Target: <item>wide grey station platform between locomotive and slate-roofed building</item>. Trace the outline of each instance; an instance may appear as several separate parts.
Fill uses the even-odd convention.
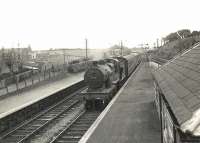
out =
[[[161,131],[149,64],[142,64],[79,143],[160,143]]]

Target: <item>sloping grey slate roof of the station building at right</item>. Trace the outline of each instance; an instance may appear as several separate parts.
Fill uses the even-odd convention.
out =
[[[200,44],[154,72],[179,124],[200,108]]]

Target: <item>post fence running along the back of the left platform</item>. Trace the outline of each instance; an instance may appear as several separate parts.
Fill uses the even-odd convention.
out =
[[[18,92],[21,89],[30,87],[44,80],[49,80],[58,75],[65,74],[68,64],[52,65],[51,68],[46,66],[42,69],[31,69],[29,71],[13,75],[9,78],[0,80],[0,96],[8,93]]]

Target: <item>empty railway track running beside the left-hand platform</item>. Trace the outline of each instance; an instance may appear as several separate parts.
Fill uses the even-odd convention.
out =
[[[67,96],[59,103],[8,132],[0,138],[0,143],[22,143],[30,140],[31,137],[39,133],[50,123],[59,120],[59,118],[63,118],[69,112],[72,112],[75,107],[80,106],[82,103],[77,99],[79,92],[76,91]]]

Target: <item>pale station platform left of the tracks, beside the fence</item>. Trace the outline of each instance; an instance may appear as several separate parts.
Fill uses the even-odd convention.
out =
[[[45,82],[39,86],[1,99],[0,119],[83,80],[83,74],[83,72],[67,73],[60,80]]]

